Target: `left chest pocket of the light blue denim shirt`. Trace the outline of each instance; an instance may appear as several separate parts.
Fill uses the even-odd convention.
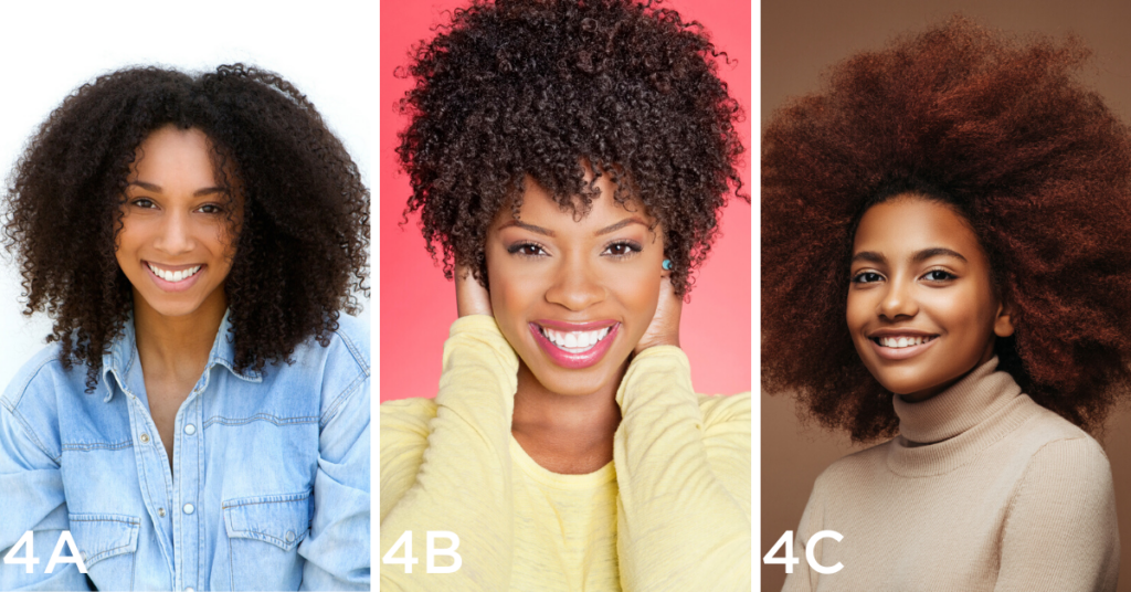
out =
[[[133,590],[140,520],[118,514],[70,514],[69,521],[90,581],[100,590]]]

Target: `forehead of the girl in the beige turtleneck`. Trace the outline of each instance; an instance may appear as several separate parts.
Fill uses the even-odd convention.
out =
[[[899,196],[864,213],[853,252],[879,251],[889,257],[946,247],[970,258],[984,258],[974,228],[953,207],[915,196]]]

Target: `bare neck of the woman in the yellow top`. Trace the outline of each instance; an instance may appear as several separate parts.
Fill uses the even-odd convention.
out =
[[[519,441],[538,440],[561,454],[586,455],[605,448],[611,452],[613,434],[621,423],[616,388],[627,369],[628,360],[618,379],[595,393],[562,395],[543,386],[519,361],[511,431]]]

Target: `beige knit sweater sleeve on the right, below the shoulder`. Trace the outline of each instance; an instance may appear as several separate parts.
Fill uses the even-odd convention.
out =
[[[996,591],[1114,592],[1115,494],[1107,457],[1095,440],[1051,441],[1033,456],[1001,547]]]

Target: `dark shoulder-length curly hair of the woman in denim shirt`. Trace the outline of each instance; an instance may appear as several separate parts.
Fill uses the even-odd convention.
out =
[[[224,283],[235,363],[290,362],[314,336],[323,346],[338,311],[366,293],[369,190],[314,106],[276,74],[243,65],[200,76],[131,68],[83,85],[40,127],[9,178],[5,246],[23,274],[25,315],[46,311],[61,359],[102,355],[132,310],[114,258],[135,153],[166,125],[210,140],[228,203],[243,222]]]

